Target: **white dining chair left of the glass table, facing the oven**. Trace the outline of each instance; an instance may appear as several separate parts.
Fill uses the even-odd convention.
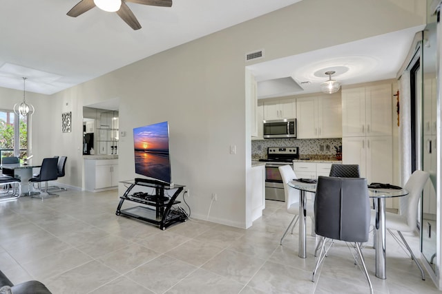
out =
[[[278,167],[278,169],[281,174],[282,184],[284,185],[284,196],[285,196],[285,205],[287,212],[294,215],[294,217],[291,219],[289,226],[287,227],[287,229],[285,229],[285,232],[282,235],[282,238],[280,240],[280,244],[282,245],[282,240],[284,240],[289,229],[291,228],[291,233],[293,233],[293,229],[296,226],[296,223],[298,222],[300,214],[299,213],[300,191],[298,189],[294,189],[289,186],[289,182],[297,178],[291,165],[282,165],[281,167]],[[309,200],[307,200],[306,215],[311,218],[311,234],[314,235],[314,209],[313,209],[313,203]]]

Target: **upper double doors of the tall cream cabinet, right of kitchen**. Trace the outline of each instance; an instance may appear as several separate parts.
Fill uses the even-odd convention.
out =
[[[392,135],[392,85],[342,90],[343,136]]]

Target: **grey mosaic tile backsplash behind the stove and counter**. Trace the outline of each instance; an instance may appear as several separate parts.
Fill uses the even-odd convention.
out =
[[[253,159],[266,158],[268,147],[299,147],[302,156],[334,156],[336,147],[342,145],[341,138],[321,139],[266,139],[251,141],[251,156]]]

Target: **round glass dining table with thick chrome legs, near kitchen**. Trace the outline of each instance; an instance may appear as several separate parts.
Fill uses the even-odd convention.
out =
[[[306,198],[305,193],[316,193],[316,182],[301,182],[291,180],[289,186],[298,189],[299,193],[299,251],[300,258],[307,258],[306,254]],[[369,198],[373,198],[376,210],[376,225],[374,227],[375,240],[375,267],[376,277],[386,279],[386,255],[385,255],[385,198],[401,197],[408,195],[406,189],[377,189],[367,188]]]

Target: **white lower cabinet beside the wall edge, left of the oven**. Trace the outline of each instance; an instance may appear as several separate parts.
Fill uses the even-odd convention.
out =
[[[265,165],[251,168],[251,221],[262,216],[265,209]]]

